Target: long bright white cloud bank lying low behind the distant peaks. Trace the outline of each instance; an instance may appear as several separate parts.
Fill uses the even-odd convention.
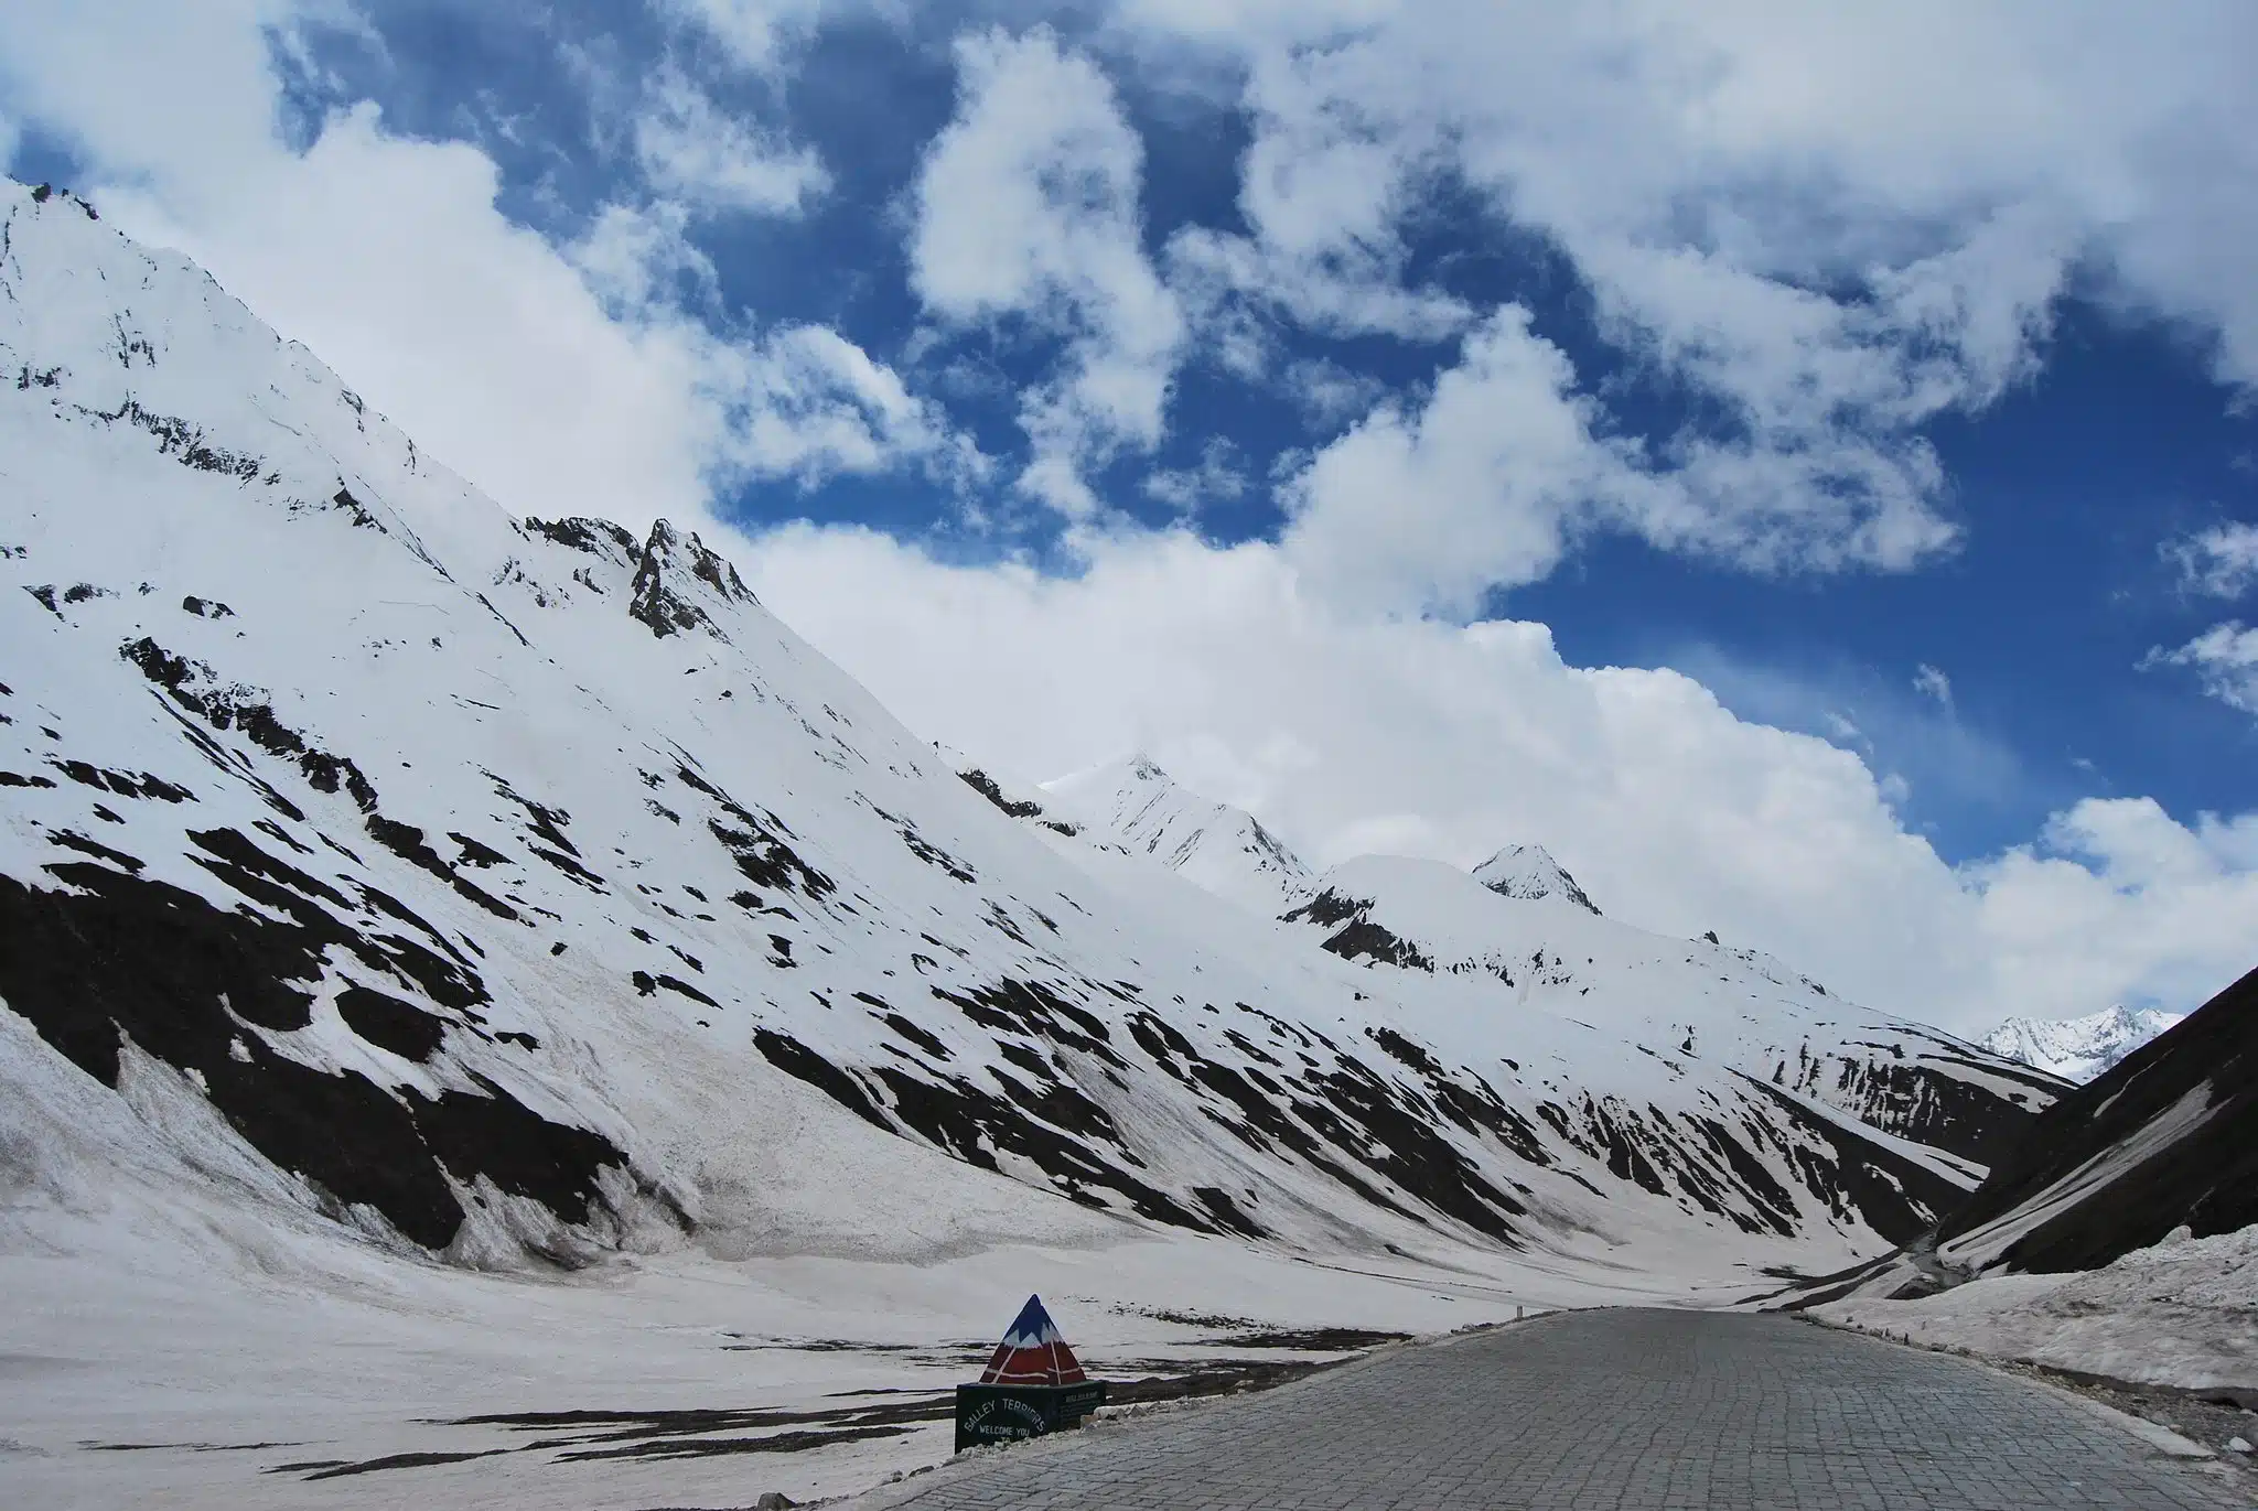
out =
[[[1542,842],[1614,917],[1951,1028],[2190,1005],[2258,951],[2258,815],[2084,802],[1955,872],[1854,752],[1673,671],[1563,664],[1544,626],[1344,614],[1269,544],[1118,535],[1061,580],[793,526],[747,576],[912,727],[1003,770],[1149,750],[1312,863]]]

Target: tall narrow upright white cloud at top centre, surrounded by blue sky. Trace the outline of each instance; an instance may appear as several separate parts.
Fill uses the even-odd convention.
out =
[[[1145,255],[1145,147],[1106,75],[1048,27],[957,41],[957,111],[917,176],[910,282],[955,325],[1025,321],[1066,343],[1021,395],[1021,486],[1088,519],[1091,465],[1165,431],[1183,312]]]

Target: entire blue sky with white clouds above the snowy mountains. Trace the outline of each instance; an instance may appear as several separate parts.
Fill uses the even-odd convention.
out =
[[[1136,741],[1319,858],[1479,858],[1486,827],[1612,811],[1596,777],[1542,786],[1599,770],[1684,833],[1526,838],[1657,924],[1757,888],[1730,917],[1782,949],[1865,917],[1858,885],[1915,885],[1876,858],[1906,838],[1971,906],[2075,861],[2127,931],[2188,865],[2240,888],[2251,14],[1761,11],[34,5],[0,34],[0,149],[102,187],[506,506],[736,529],[786,619],[1036,777]],[[115,36],[140,41],[104,72]],[[1118,626],[1176,632],[1249,571],[1285,608],[1242,583],[1213,632],[1285,637],[1249,650],[1264,696],[1188,702],[1224,675],[1192,639],[1113,660]],[[1325,628],[1287,646],[1303,612]],[[1484,621],[1551,646],[1495,673],[1488,723],[1434,671],[1499,655]],[[926,639],[1018,682],[951,680],[903,648]],[[1447,646],[1432,725],[1389,745],[1377,714],[1310,711],[1384,707],[1418,644]],[[1328,682],[1344,655],[1377,680]],[[1075,716],[1079,680],[1120,691]],[[1307,702],[1235,725],[1269,684]],[[1484,743],[1569,687],[1601,689],[1594,727],[1694,687],[1718,739],[1775,754],[1680,791],[1624,752]],[[1820,768],[1843,813],[1784,797]],[[1838,820],[1872,849],[1811,838]],[[1725,833],[1777,845],[1721,861]],[[1836,924],[1779,922],[1797,867],[1867,881]],[[2159,949],[2258,953],[2242,897]],[[2186,994],[2145,960],[2113,992]]]

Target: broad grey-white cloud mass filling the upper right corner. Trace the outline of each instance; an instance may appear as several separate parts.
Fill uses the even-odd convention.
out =
[[[1603,515],[1666,549],[1766,571],[1951,549],[1922,431],[2032,373],[2073,269],[2197,327],[2220,379],[2258,382],[2258,282],[2233,269],[2258,235],[2258,11],[2238,0],[2165,18],[1120,0],[1115,29],[1156,70],[1185,50],[1237,65],[1249,233],[1179,237],[1210,285],[1319,327],[1348,291],[1409,309],[1425,294],[1402,287],[1400,244],[1436,181],[1556,248],[1601,334],[1705,416],[1653,436],[1662,486]],[[1542,542],[1542,513],[1499,531],[1499,580],[1542,560],[1524,540]],[[1423,551],[1456,596],[1456,542]]]

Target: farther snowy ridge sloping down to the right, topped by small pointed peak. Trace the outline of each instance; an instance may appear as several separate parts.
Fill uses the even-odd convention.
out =
[[[1287,915],[1371,967],[1488,982],[1497,1010],[1590,1023],[1664,1064],[1723,1064],[1969,1161],[1980,1172],[2062,1082],[1933,1028],[1854,1007],[1757,951],[1502,894],[1432,861],[1366,856]]]

